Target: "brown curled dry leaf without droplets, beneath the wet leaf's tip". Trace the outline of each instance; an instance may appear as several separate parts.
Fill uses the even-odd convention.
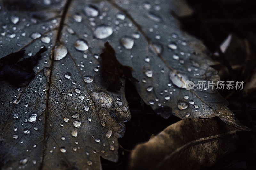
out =
[[[131,153],[130,169],[202,169],[234,152],[240,130],[218,118],[184,119]],[[182,135],[181,135],[182,134]]]

